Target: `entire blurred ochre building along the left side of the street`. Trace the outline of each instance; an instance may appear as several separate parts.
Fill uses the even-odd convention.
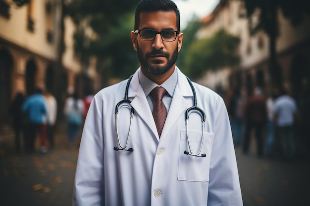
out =
[[[64,2],[17,5],[0,0],[0,127],[10,124],[9,108],[17,92],[29,96],[37,87],[50,91],[62,118],[68,93],[78,92],[82,98],[101,86],[96,58],[83,65],[74,54],[76,28],[63,15]]]

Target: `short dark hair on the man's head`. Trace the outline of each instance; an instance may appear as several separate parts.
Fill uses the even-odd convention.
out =
[[[147,11],[174,11],[176,14],[176,26],[178,32],[180,29],[180,11],[176,4],[172,0],[140,0],[137,4],[136,14],[135,14],[135,30],[139,29],[140,25],[140,13]]]

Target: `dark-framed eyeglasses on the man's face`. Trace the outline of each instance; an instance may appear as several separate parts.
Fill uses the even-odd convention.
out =
[[[157,32],[152,29],[140,29],[135,31],[136,34],[140,34],[140,38],[144,41],[153,41],[157,34],[160,34],[162,41],[175,41],[176,36],[180,33],[174,30],[164,30]]]

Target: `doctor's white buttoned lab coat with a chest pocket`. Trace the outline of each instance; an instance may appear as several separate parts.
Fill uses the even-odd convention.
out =
[[[135,109],[128,148],[119,147],[115,131],[115,105],[124,98],[127,81],[98,92],[83,129],[76,168],[75,206],[242,206],[238,169],[227,111],[222,98],[194,83],[198,107],[206,113],[202,153],[189,150],[185,110],[193,105],[186,77],[176,67],[178,82],[159,139],[152,111],[139,83],[138,72],[128,97]],[[118,117],[122,146],[125,145],[130,111],[124,106]],[[193,112],[189,122],[192,152],[198,150],[202,127]]]

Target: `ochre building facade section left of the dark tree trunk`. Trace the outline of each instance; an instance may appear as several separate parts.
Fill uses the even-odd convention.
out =
[[[30,0],[17,6],[0,0],[0,122],[8,124],[17,92],[36,87],[56,92],[61,7],[54,0]]]

